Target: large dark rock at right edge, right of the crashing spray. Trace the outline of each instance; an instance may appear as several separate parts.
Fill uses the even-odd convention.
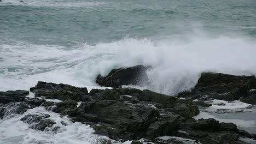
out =
[[[245,97],[254,87],[256,87],[255,76],[202,73],[191,92],[179,93],[178,97],[203,98],[200,101],[210,98],[232,101]]]

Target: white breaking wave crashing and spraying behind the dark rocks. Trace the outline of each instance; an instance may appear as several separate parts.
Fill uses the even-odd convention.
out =
[[[98,74],[113,68],[151,65],[153,91],[176,94],[193,87],[202,71],[256,74],[256,43],[245,38],[125,38],[112,43],[77,45],[0,45],[0,89],[27,89],[37,81],[96,87]],[[15,83],[15,85],[14,85]]]

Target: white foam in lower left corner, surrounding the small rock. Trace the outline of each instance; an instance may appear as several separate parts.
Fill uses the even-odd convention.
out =
[[[20,121],[22,117],[27,114],[46,113],[50,115],[56,124],[53,127],[60,127],[59,133],[53,131],[39,131],[28,128],[28,124]],[[67,126],[61,124],[65,122]],[[109,140],[106,136],[99,136],[94,134],[94,129],[89,125],[79,122],[72,123],[67,116],[60,117],[59,113],[46,111],[44,107],[36,107],[26,111],[23,115],[15,115],[9,119],[0,120],[0,143],[44,143],[53,144],[82,144],[82,143],[100,143],[102,139]],[[121,143],[113,141],[113,143]],[[129,143],[129,142],[126,142]]]

